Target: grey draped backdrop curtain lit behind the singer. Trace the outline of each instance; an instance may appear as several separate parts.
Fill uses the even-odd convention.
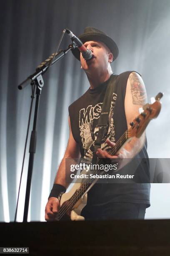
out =
[[[31,100],[30,86],[19,91],[17,85],[55,51],[65,27],[76,35],[86,26],[105,31],[120,51],[112,64],[113,72],[136,70],[142,74],[148,99],[159,91],[165,92],[162,113],[147,130],[148,153],[150,157],[170,157],[169,0],[1,0],[0,4],[0,221],[14,220]],[[70,38],[65,35],[60,48],[68,44]],[[29,220],[44,220],[47,197],[67,145],[67,108],[89,87],[71,52],[50,68],[44,82]],[[27,169],[28,148],[18,221],[23,218]],[[163,186],[159,189],[169,189],[169,184]],[[155,198],[152,194],[153,202]],[[160,207],[158,202],[155,207]],[[155,208],[150,209],[148,218],[154,218]]]

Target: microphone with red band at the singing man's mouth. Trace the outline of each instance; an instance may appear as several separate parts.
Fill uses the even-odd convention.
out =
[[[69,29],[65,28],[67,34],[70,36],[71,40],[75,42],[75,44],[77,44],[77,48],[79,49],[79,51],[82,53],[82,57],[85,60],[91,59],[92,58],[92,51],[87,49],[82,41],[75,36]]]

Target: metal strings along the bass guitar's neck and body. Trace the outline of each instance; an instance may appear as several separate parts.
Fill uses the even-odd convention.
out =
[[[110,149],[110,151],[108,151],[108,153],[109,154],[115,154],[116,153],[116,151],[118,151],[118,149],[122,146],[122,143],[124,143],[126,140],[127,140],[127,136],[128,135],[128,130],[127,131],[125,131],[125,133],[123,133],[123,135],[119,138],[119,140],[117,141],[117,143],[115,144],[115,146],[112,148],[112,149]],[[120,146],[120,147],[119,147]],[[78,189],[78,191],[80,191],[81,192],[81,189],[82,189],[82,186],[84,186],[84,184],[85,183],[82,183],[82,185],[80,186],[80,188]],[[87,185],[88,184],[90,184],[90,182],[88,182],[87,183]],[[76,193],[76,197],[74,198],[74,195],[75,195],[75,193]],[[59,212],[58,212],[58,214],[57,214],[57,216],[58,215],[60,215],[60,217],[59,218],[62,218],[62,216],[63,215],[65,215],[65,213],[67,212],[67,210],[69,210],[69,208],[70,208],[70,205],[71,204],[73,204],[73,206],[75,205],[75,202],[74,202],[74,200],[77,200],[78,199],[78,197],[80,196],[80,194],[78,194],[77,192],[75,192],[73,195],[72,195],[72,197],[68,200],[69,202],[72,200],[73,202],[70,202],[70,204],[69,205],[64,205],[63,207],[61,206],[61,209],[59,210]],[[82,195],[81,195],[82,196]],[[81,197],[80,196],[80,197]],[[80,198],[79,198],[80,199]],[[72,206],[72,207],[73,207]],[[70,209],[71,210],[71,209]],[[62,215],[62,216],[61,216]]]

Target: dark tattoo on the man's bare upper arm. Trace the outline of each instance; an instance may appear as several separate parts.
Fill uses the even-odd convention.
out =
[[[147,102],[147,95],[144,84],[141,84],[138,75],[132,72],[129,76],[133,104],[145,105]]]

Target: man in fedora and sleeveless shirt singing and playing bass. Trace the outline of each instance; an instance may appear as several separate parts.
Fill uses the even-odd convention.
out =
[[[55,220],[59,209],[58,195],[65,192],[68,183],[65,179],[65,159],[92,158],[97,136],[97,121],[110,77],[114,76],[110,64],[118,56],[115,41],[102,31],[87,27],[79,36],[92,58],[85,60],[78,49],[72,51],[81,62],[81,69],[87,75],[90,88],[69,106],[68,123],[70,136],[65,155],[59,166],[54,186],[45,208],[45,220]],[[145,105],[147,95],[145,85],[137,72],[124,72],[116,76],[115,91],[110,104],[108,129],[102,137],[98,158],[148,158],[145,133],[140,138],[133,137],[119,154],[112,156],[112,148],[122,134],[130,128],[130,122],[139,115],[138,109]],[[80,85],[81,86],[81,85]],[[96,183],[87,193],[87,205],[81,215],[85,220],[144,219],[145,209],[150,206],[150,184],[143,177],[148,170],[143,164],[138,167],[138,183]]]

